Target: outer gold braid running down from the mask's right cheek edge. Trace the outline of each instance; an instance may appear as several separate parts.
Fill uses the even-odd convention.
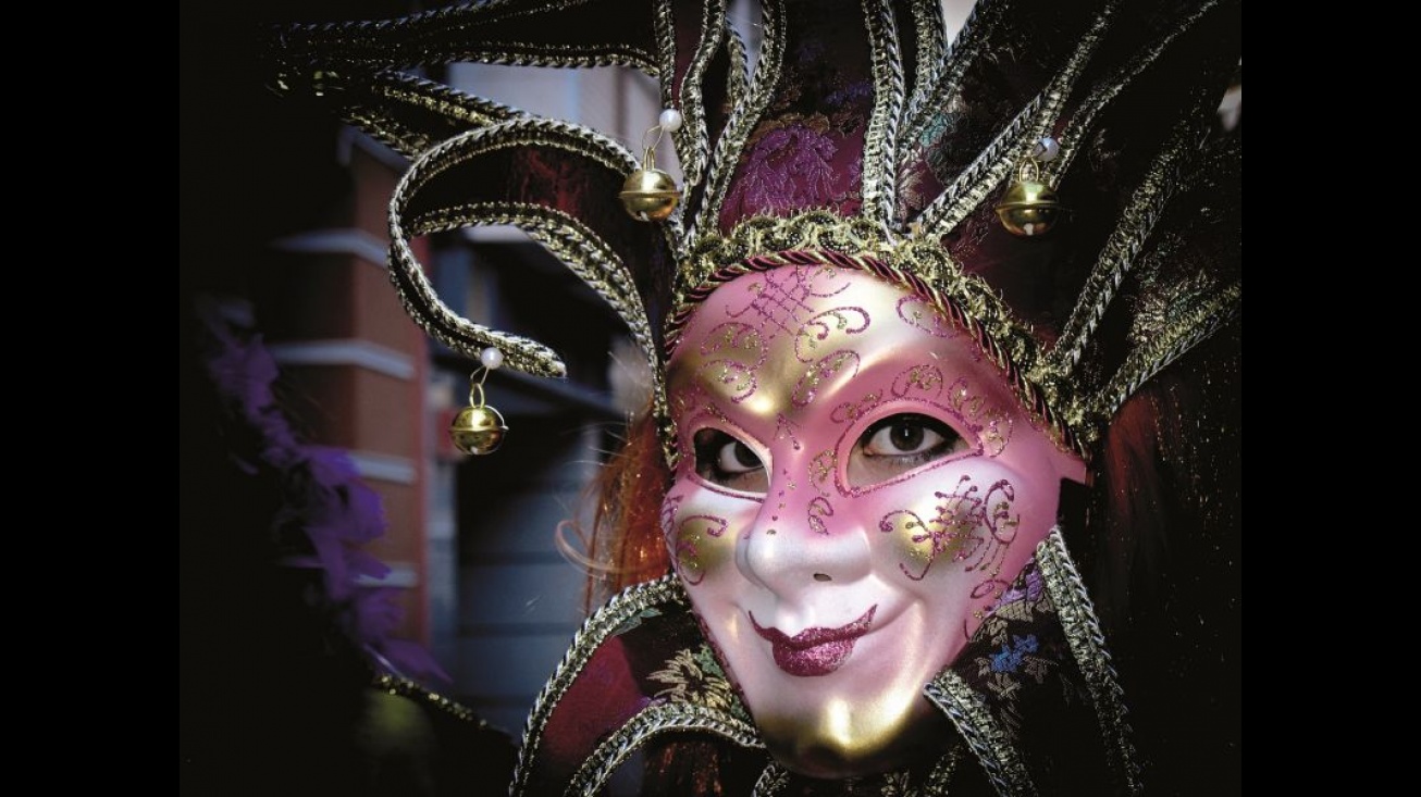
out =
[[[1066,631],[1071,656],[1086,676],[1086,688],[1096,706],[1096,719],[1100,722],[1110,769],[1127,794],[1138,794],[1140,764],[1135,761],[1135,746],[1130,740],[1133,732],[1125,720],[1124,689],[1115,678],[1115,668],[1110,663],[1096,609],[1091,607],[1090,595],[1086,594],[1086,585],[1081,584],[1080,573],[1066,551],[1066,541],[1059,527],[1052,528],[1052,533],[1036,546],[1036,561],[1042,568],[1052,604],[1056,605],[1061,628]]]

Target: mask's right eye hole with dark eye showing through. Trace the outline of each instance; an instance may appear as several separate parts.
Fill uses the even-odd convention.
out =
[[[854,443],[848,455],[848,483],[867,487],[887,482],[971,448],[956,429],[936,418],[914,412],[890,415]]]

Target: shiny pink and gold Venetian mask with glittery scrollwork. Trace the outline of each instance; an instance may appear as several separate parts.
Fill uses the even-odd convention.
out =
[[[814,777],[941,740],[922,688],[1084,465],[917,294],[780,267],[719,287],[669,369],[676,573],[772,754]]]

